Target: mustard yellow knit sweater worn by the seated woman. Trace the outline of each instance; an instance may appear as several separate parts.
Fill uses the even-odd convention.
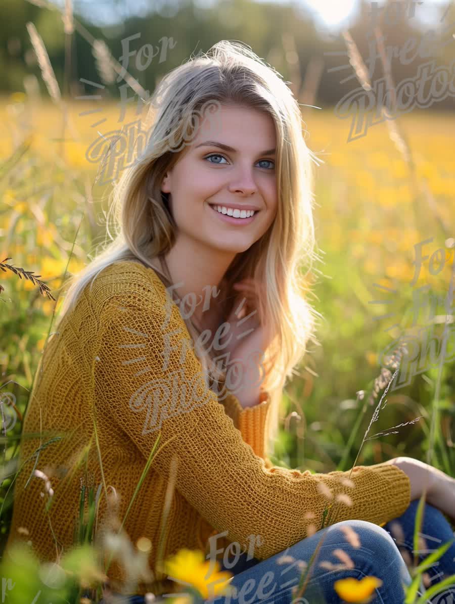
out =
[[[105,484],[113,493],[114,487],[123,521],[158,434],[123,526],[134,546],[140,537],[152,544],[154,580],[141,580],[135,593],[173,591],[175,582],[158,563],[183,547],[208,555],[210,536],[217,536],[215,549],[237,542],[242,551],[254,536],[253,555],[262,560],[305,538],[309,525],[319,530],[330,504],[329,524],[363,519],[384,525],[405,511],[410,482],[396,466],[356,466],[350,480],[349,471],[273,466],[264,455],[269,394],[262,390],[257,405],[247,408],[233,393],[224,396],[225,389],[217,396],[190,342],[179,307],[152,268],[115,262],[83,289],[40,360],[24,418],[7,548],[16,539],[31,541],[40,559],[53,561],[57,551],[68,550],[87,476],[95,490]],[[36,463],[34,451],[56,434],[63,437],[42,448]],[[53,495],[36,476],[24,489],[34,467],[49,477]],[[105,527],[120,527],[108,524],[106,502],[115,498],[103,493],[104,486],[97,538]],[[338,500],[341,493],[352,505]],[[116,559],[107,574],[120,589],[126,575]]]

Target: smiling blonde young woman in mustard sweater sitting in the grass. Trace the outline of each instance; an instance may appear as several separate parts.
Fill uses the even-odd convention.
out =
[[[73,544],[81,481],[91,481],[97,539],[115,503],[153,571],[131,602],[172,591],[171,554],[201,548],[213,559],[213,545],[220,562],[230,545],[245,552],[236,568],[223,562],[239,599],[253,579],[251,604],[291,602],[302,568],[279,580],[280,559],[308,563],[322,536],[318,563],[340,564],[334,550],[352,562],[314,565],[307,593],[340,602],[335,580],[373,575],[373,602],[402,602],[411,577],[387,529],[396,521],[411,550],[427,489],[422,533],[453,538],[443,515],[455,516],[453,478],[406,457],[328,474],[268,458],[316,314],[302,274],[314,254],[314,156],[297,101],[249,47],[222,41],[171,71],[150,102],[147,145],[114,188],[117,236],[75,278],[40,364],[24,434],[42,435],[21,443],[8,545],[25,539],[58,560]],[[63,437],[33,457],[56,431]],[[40,495],[34,468],[53,493]],[[435,582],[455,572],[454,550],[428,570]],[[268,571],[279,583],[265,589]],[[117,559],[108,576],[120,591]]]

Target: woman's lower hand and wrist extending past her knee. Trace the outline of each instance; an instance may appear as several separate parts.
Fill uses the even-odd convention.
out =
[[[455,521],[454,478],[413,457],[396,457],[386,463],[399,467],[408,476],[411,501],[419,499],[426,487],[425,500]]]

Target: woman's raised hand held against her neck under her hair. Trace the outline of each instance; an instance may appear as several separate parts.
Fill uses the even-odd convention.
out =
[[[230,353],[227,370],[234,362],[242,367],[242,376],[233,393],[239,393],[237,398],[242,406],[253,406],[259,399],[264,377],[263,355],[271,341],[259,315],[258,301],[263,290],[252,278],[236,283],[234,288],[239,295],[227,318],[231,336],[229,344],[224,347],[224,351]]]

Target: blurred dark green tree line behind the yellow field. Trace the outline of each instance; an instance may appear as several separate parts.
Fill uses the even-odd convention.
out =
[[[112,7],[115,3],[116,0],[112,0]],[[129,74],[151,94],[166,72],[190,56],[207,51],[222,39],[241,40],[250,45],[256,54],[283,75],[302,103],[318,106],[336,104],[360,86],[357,77],[349,78],[353,67],[341,33],[324,33],[311,12],[297,2],[259,4],[252,0],[217,0],[206,8],[199,7],[193,0],[180,0],[172,7],[153,4],[155,6],[148,14],[131,17],[109,27],[97,27],[81,14],[74,13],[74,33],[65,34],[62,11],[50,1],[1,0],[4,21],[0,22],[0,90],[4,93],[24,91],[24,78],[27,82],[27,77],[33,74],[42,94],[48,94],[31,45],[27,22],[32,22],[42,37],[65,97],[80,94],[119,97],[119,87],[125,82],[108,68],[106,60],[103,61],[107,52],[126,65]],[[450,2],[434,5],[440,18],[436,25],[427,27],[413,16],[413,11],[420,14],[419,11],[423,10],[420,4],[389,1],[386,8],[378,13],[377,20],[384,36],[386,54],[390,53],[395,85],[404,79],[415,78],[418,66],[428,60],[434,59],[436,67],[445,65],[447,69],[453,61],[455,39],[449,24],[453,21],[455,8]],[[369,59],[374,63],[370,74],[373,81],[384,75],[379,57],[373,60],[372,8],[375,6],[378,7],[377,2],[361,0],[358,16],[349,26],[349,33],[367,68]],[[126,40],[129,37],[131,39]],[[128,49],[136,54],[122,61],[120,57],[126,43]],[[373,45],[377,54],[377,44]],[[390,47],[389,51],[387,47]],[[428,52],[430,56],[425,56]],[[81,79],[102,84],[105,88],[97,89],[81,82]],[[439,90],[441,85],[438,83],[436,89]],[[428,83],[427,90],[429,86]],[[131,91],[129,96],[133,96]],[[454,107],[454,98],[450,94],[433,102],[437,109]]]

